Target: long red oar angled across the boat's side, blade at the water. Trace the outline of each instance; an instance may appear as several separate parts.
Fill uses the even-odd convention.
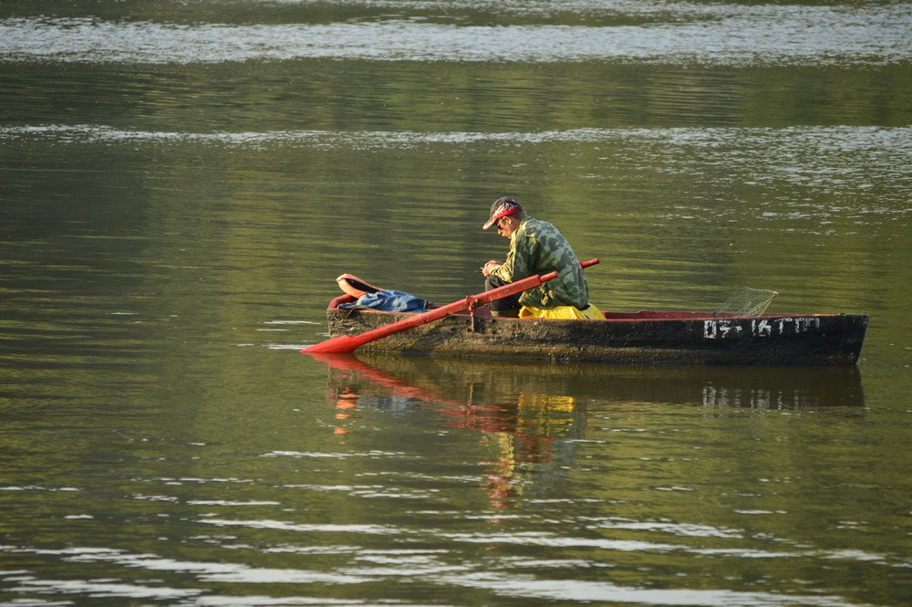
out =
[[[589,261],[584,261],[581,263],[580,266],[595,266],[597,263],[598,259],[590,259]],[[451,304],[447,304],[446,306],[430,309],[427,312],[421,312],[420,314],[416,314],[415,316],[409,317],[408,319],[401,319],[385,327],[378,327],[377,329],[365,331],[360,335],[339,335],[326,341],[321,341],[320,343],[305,348],[302,350],[302,352],[305,354],[317,354],[321,352],[339,354],[343,352],[353,352],[359,346],[363,346],[364,344],[370,343],[371,341],[382,340],[385,337],[395,335],[396,333],[400,333],[404,330],[420,327],[421,325],[426,325],[429,322],[433,322],[434,320],[452,316],[453,314],[458,314],[462,311],[472,309],[476,306],[483,306],[484,304],[491,303],[497,299],[509,297],[515,293],[522,293],[525,290],[538,287],[543,282],[553,280],[556,277],[557,272],[551,272],[542,276],[535,275],[523,278],[522,280],[517,280],[516,282],[512,282],[508,285],[503,285],[503,287],[494,288],[490,291],[479,293],[478,295],[470,295],[465,299],[454,301]]]

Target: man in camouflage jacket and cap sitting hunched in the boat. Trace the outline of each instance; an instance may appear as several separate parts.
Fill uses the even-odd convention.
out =
[[[489,304],[493,316],[512,318],[601,319],[589,303],[589,287],[583,268],[564,235],[546,221],[523,211],[513,198],[504,196],[491,205],[491,215],[482,226],[497,226],[497,234],[510,239],[503,263],[492,259],[482,267],[484,288],[503,287],[534,274],[557,271],[557,277],[539,287]]]

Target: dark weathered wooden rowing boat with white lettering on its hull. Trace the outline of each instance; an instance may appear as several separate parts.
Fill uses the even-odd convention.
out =
[[[413,316],[344,309],[350,295],[326,310],[329,334],[355,336]],[[605,312],[605,319],[493,318],[487,309],[461,312],[362,345],[359,351],[553,361],[673,364],[854,365],[865,314]]]

